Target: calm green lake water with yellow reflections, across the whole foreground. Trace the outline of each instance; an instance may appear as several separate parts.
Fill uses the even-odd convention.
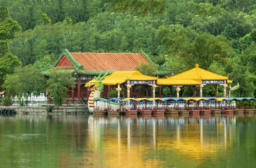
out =
[[[255,167],[256,116],[0,116],[0,167]]]

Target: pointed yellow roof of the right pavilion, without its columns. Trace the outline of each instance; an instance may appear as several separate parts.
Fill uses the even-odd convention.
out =
[[[181,74],[177,74],[173,77],[167,77],[167,79],[159,79],[157,84],[159,85],[199,85],[201,80],[227,80],[228,83],[232,83],[228,80],[228,77],[221,76],[209,72],[205,69],[201,69],[199,65],[196,65],[193,69],[190,69]]]

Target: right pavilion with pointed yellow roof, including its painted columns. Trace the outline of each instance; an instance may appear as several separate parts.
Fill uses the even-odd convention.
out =
[[[157,85],[168,85],[176,86],[176,94],[179,97],[180,86],[192,85],[193,86],[193,96],[196,96],[196,86],[200,86],[200,97],[203,97],[203,86],[206,84],[216,85],[216,97],[218,97],[218,84],[222,85],[224,88],[224,97],[226,97],[226,88],[229,84],[228,96],[230,97],[230,84],[233,80],[229,80],[228,77],[209,72],[205,69],[201,69],[199,65],[195,68],[190,69],[181,74],[177,74],[173,77],[167,77],[167,79],[157,79]]]

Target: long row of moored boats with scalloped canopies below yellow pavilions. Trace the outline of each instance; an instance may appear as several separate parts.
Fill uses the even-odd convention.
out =
[[[242,115],[256,113],[255,98],[139,98],[139,99],[95,99],[93,116],[210,116]],[[99,103],[101,103],[99,105]],[[104,104],[104,106],[102,106]]]

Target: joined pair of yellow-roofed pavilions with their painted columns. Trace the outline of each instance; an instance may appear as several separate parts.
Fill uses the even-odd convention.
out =
[[[149,77],[141,74],[138,71],[127,71],[127,72],[113,72],[112,74],[105,77],[102,83],[107,86],[105,93],[110,91],[110,86],[117,87],[118,99],[120,96],[120,91],[122,90],[120,84],[125,86],[127,89],[127,98],[132,97],[132,86],[134,85],[148,85],[151,86],[152,97],[155,97],[156,84],[159,86],[159,94],[161,95],[161,85],[165,86],[176,86],[176,95],[179,97],[180,87],[184,85],[193,86],[193,96],[196,96],[196,86],[200,87],[200,97],[203,97],[203,86],[206,84],[216,85],[216,97],[218,97],[218,84],[222,85],[224,88],[224,97],[226,97],[226,88],[229,84],[228,96],[230,97],[230,89],[232,80],[228,77],[209,72],[205,69],[201,69],[199,65],[195,68],[190,69],[181,74],[177,74],[173,77],[167,77],[167,79],[158,79],[157,77]]]

